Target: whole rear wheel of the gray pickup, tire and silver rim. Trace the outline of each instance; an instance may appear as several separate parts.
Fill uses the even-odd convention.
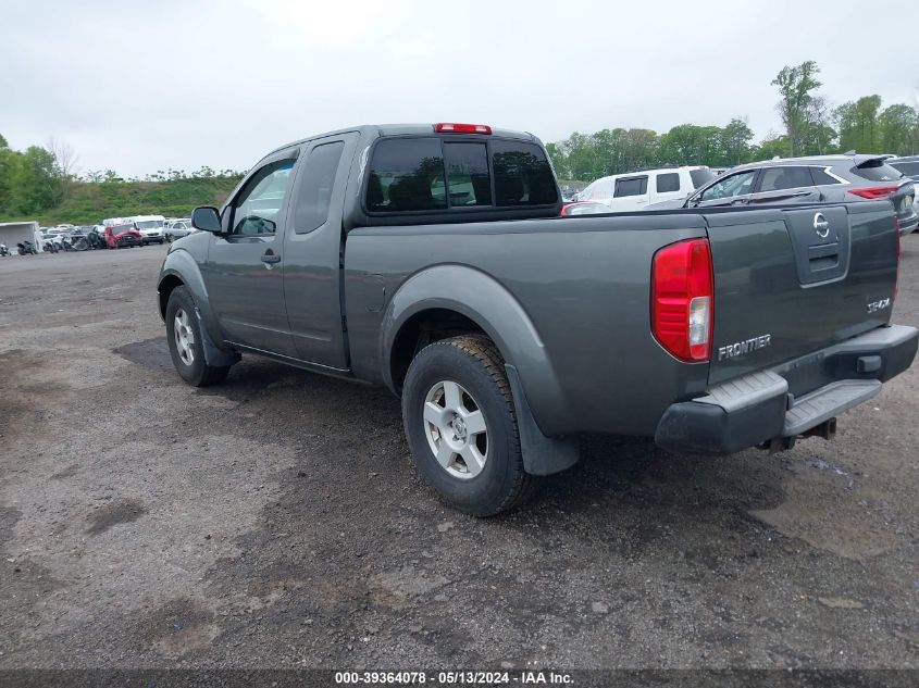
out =
[[[425,347],[406,376],[402,421],[419,471],[451,506],[492,516],[535,490],[504,361],[487,338],[463,335]]]

